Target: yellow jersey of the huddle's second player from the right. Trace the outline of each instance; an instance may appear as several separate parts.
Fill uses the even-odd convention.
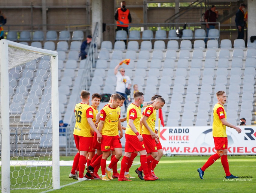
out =
[[[133,130],[129,126],[129,119],[133,120],[134,126],[138,132],[140,132],[140,119],[141,119],[141,108],[136,106],[135,104],[130,104],[127,108],[127,126],[125,129],[125,133],[128,135],[136,135]]]

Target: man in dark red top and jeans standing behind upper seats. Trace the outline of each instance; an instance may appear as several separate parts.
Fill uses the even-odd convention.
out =
[[[210,29],[215,28],[215,23],[208,23],[208,22],[216,22],[218,18],[218,11],[216,10],[216,6],[212,5],[210,9],[206,10],[204,14],[204,20],[206,22],[206,37],[208,37],[208,33]],[[204,41],[207,43],[208,38],[205,38]]]

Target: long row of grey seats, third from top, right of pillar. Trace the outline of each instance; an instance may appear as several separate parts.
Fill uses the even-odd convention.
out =
[[[123,53],[121,50],[114,50],[111,53],[111,59],[118,59],[122,60],[123,58],[130,58],[133,60],[136,59],[160,59],[163,60],[165,59],[177,59],[177,52],[175,50],[167,50],[165,53],[162,50],[153,50],[152,56],[151,52],[149,50],[140,50],[138,55],[137,52],[134,50],[128,50],[127,52]],[[228,49],[220,49],[217,57],[217,52],[215,49],[207,49],[204,55],[203,50],[200,49],[195,49],[192,52],[192,55],[190,55],[189,50],[180,50],[178,52],[178,58],[179,59],[190,59],[190,58],[256,58],[256,49],[251,48],[247,49],[246,53],[244,55],[244,50],[243,49],[234,49],[232,52],[232,57],[230,57],[230,50]],[[110,52],[108,50],[101,50],[98,55],[99,59],[104,59],[104,60],[109,60],[110,59]]]

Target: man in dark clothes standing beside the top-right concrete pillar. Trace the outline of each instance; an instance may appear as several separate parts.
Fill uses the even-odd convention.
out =
[[[237,31],[238,31],[237,39],[244,39],[244,36],[245,36],[245,34],[244,34],[245,7],[246,7],[246,5],[244,3],[241,3],[239,9],[236,11],[235,22],[236,22],[236,28],[237,28]]]

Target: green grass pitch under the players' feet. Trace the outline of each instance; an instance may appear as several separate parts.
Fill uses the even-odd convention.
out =
[[[139,156],[133,162],[129,174],[136,177],[132,182],[91,180],[78,182],[69,178],[71,167],[60,167],[60,190],[52,192],[254,192],[256,189],[256,156],[228,156],[230,172],[233,175],[252,176],[252,181],[224,181],[224,169],[218,159],[199,178],[197,168],[203,166],[209,156],[174,156],[160,160],[155,174],[156,181],[140,180],[135,174],[139,167]],[[72,160],[73,157],[60,157]],[[120,169],[120,162],[117,165]],[[99,170],[99,174],[100,174]],[[11,192],[44,192],[47,190],[11,190]]]

